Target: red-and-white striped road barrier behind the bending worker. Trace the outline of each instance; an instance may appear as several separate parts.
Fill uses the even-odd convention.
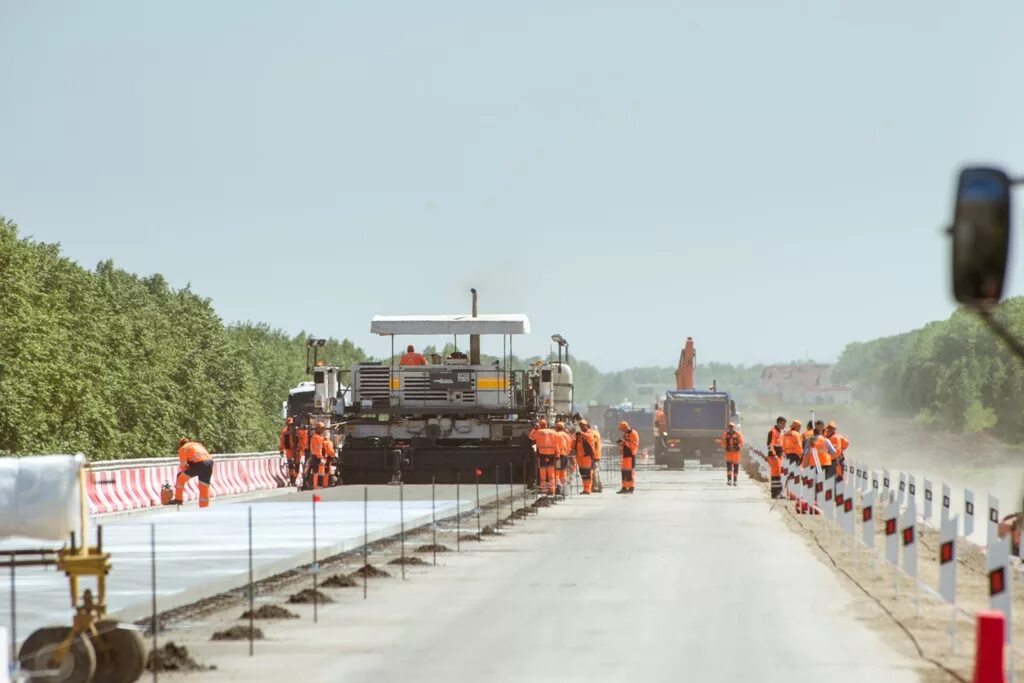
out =
[[[213,496],[236,496],[288,485],[276,453],[215,455]],[[128,512],[159,506],[160,489],[174,485],[177,458],[141,458],[90,463],[86,470],[89,513],[93,515]],[[198,481],[185,486],[184,501],[199,498]]]

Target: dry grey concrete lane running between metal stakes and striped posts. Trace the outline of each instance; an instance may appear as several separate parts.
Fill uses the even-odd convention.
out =
[[[318,625],[261,624],[255,657],[197,634],[189,648],[219,670],[196,678],[919,680],[745,477],[638,479],[632,496],[577,498],[443,567],[376,582],[368,601],[345,594]]]

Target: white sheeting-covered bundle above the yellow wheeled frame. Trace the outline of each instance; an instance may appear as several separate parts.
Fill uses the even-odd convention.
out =
[[[0,458],[0,540],[65,541],[78,530],[85,457]]]

